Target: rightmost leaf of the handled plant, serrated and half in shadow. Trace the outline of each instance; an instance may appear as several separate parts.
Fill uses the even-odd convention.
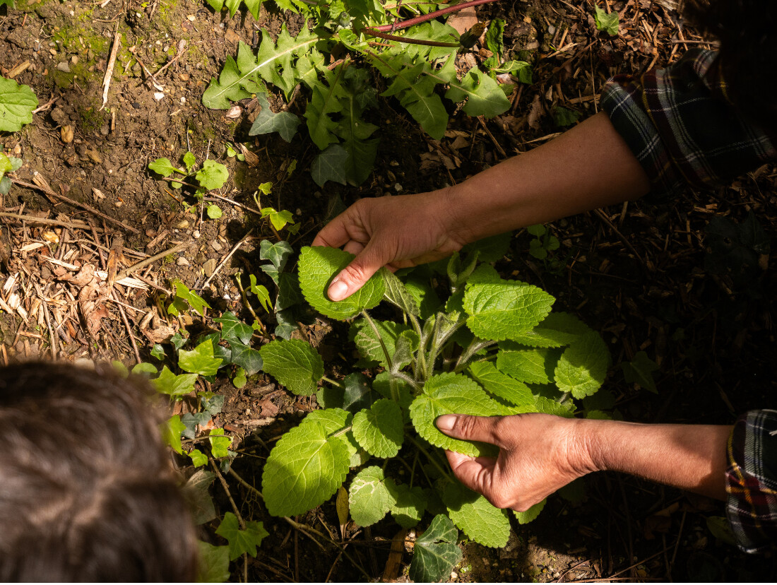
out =
[[[598,333],[590,331],[580,336],[564,350],[556,365],[556,385],[561,392],[575,398],[594,394],[607,377],[610,352]]]

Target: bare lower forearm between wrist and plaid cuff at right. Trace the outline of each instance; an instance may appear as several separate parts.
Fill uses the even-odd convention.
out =
[[[726,443],[731,428],[580,420],[591,468],[726,498]]]

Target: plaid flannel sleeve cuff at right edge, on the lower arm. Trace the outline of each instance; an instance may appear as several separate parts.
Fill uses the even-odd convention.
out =
[[[777,410],[751,410],[734,424],[728,444],[728,516],[744,552],[777,543]]]

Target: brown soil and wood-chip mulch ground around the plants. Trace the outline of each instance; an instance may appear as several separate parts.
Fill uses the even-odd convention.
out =
[[[87,221],[93,228],[65,227],[54,232],[58,243],[52,244],[47,239],[51,225],[2,218],[3,243],[12,259],[0,278],[17,275],[23,313],[29,315],[0,315],[5,359],[54,353],[46,333],[46,319],[54,319],[58,357],[134,364],[120,305],[111,304],[94,317],[99,317],[97,333],[90,333],[85,315],[75,308],[76,285],[59,280],[67,270],[52,265],[51,258],[102,269],[106,263],[110,266],[111,250],[123,254],[128,266],[179,242],[193,242],[186,252],[160,259],[141,276],[163,288],[179,278],[199,290],[253,228],[253,237],[202,291],[213,307],[211,316],[231,310],[247,317],[233,275],[261,274],[255,249],[261,239],[275,239],[267,222],[246,210],[256,207],[252,194],[260,183],[274,183],[270,201],[263,204],[292,211],[301,223],[291,240],[296,249],[309,244],[328,218],[361,197],[420,193],[458,183],[506,156],[542,144],[563,131],[554,123],[557,107],[587,117],[598,110],[596,96],[611,75],[664,66],[687,47],[698,46],[699,40],[688,29],[685,37],[678,37],[677,14],[665,8],[674,2],[608,2],[622,12],[622,34],[615,38],[595,29],[589,16],[592,2],[516,0],[479,7],[481,22],[507,21],[505,40],[511,55],[534,62],[535,83],[517,88],[511,110],[493,120],[451,111],[442,141],[423,134],[399,103],[381,99],[380,113],[371,120],[380,126],[381,138],[375,172],[361,187],[327,183],[322,189],[308,172],[317,149],[303,138],[304,132],[290,144],[277,135],[249,138],[255,100],[239,103],[237,117],[207,110],[200,102],[226,57],[236,54],[239,40],[256,47],[260,28],[276,35],[287,23],[290,30],[299,30],[300,17],[263,7],[257,23],[241,12],[234,18],[214,14],[198,0],[113,0],[104,7],[93,2],[17,3],[21,10],[0,8],[0,71],[7,75],[29,61],[16,79],[33,88],[41,105],[51,106],[23,131],[0,137],[0,146],[23,158],[22,169],[15,173],[19,181],[35,183],[42,177],[54,195],[89,204],[124,227],[47,197],[40,189],[12,187],[2,211],[73,225]],[[103,73],[116,30],[122,44],[107,107],[102,109]],[[692,44],[674,42],[684,39],[692,39]],[[155,88],[137,57],[150,71],[158,71],[176,56],[182,40],[182,53],[155,78],[162,90]],[[555,54],[569,44],[574,45]],[[459,64],[471,67],[483,56],[476,46],[471,54],[458,57]],[[375,82],[381,87],[377,76]],[[304,103],[298,99],[292,111],[301,113]],[[63,140],[64,127],[73,130],[71,141]],[[228,157],[228,143],[246,145],[252,164]],[[187,210],[195,202],[186,188],[172,190],[148,171],[155,158],[176,163],[187,149],[198,161],[209,157],[228,165],[230,181],[220,193],[246,207],[218,200],[224,216],[203,220],[197,205]],[[287,169],[294,161],[296,170],[290,174]],[[738,413],[772,404],[777,389],[771,292],[777,286],[775,252],[762,254],[744,273],[740,267],[726,271],[716,267],[720,258],[710,256],[705,230],[715,217],[738,224],[752,212],[765,232],[774,234],[775,193],[777,172],[765,167],[718,193],[641,200],[556,221],[550,230],[561,247],[545,261],[529,256],[531,236],[522,230],[497,269],[545,288],[558,299],[556,308],[580,315],[601,332],[614,360],[603,392],[615,397],[616,416],[648,423],[730,424]],[[34,242],[43,243],[30,247]],[[260,281],[270,286],[268,279]],[[35,291],[43,307],[40,301],[36,304]],[[155,312],[153,289],[117,291],[138,351],[148,359],[163,333],[158,316],[145,322],[146,315]],[[3,300],[9,301],[8,294]],[[272,326],[271,317],[267,323]],[[318,347],[331,368],[328,375],[350,371],[353,347],[343,326],[316,319],[304,324],[298,335]],[[639,351],[660,366],[657,394],[623,377],[619,364]],[[274,441],[316,408],[315,398],[295,397],[264,374],[241,389],[229,381],[217,381],[211,389],[225,395],[214,425],[236,439],[240,456],[235,472],[260,486],[263,461]],[[250,490],[228,479],[241,513],[263,521],[270,532],[257,558],[249,559],[250,580],[375,580],[384,573],[395,525],[378,524],[369,530],[350,524],[345,548],[326,541],[319,546],[305,531],[267,515]],[[451,581],[771,581],[777,574],[773,556],[743,555],[709,531],[707,519],[724,514],[722,503],[609,473],[566,491],[567,497],[549,498],[537,521],[515,524],[507,548],[465,542],[465,559],[451,573]],[[218,483],[213,493],[222,512],[231,510]],[[333,502],[296,520],[341,541]],[[204,538],[218,542],[212,528],[204,527]],[[406,554],[403,562],[409,559]],[[234,579],[242,579],[242,562],[233,563],[232,569]],[[397,578],[406,580],[401,571]]]

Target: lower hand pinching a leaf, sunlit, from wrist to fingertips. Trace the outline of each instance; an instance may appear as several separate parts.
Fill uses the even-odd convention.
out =
[[[449,437],[499,447],[499,456],[445,451],[456,477],[498,508],[524,512],[569,482],[596,471],[578,432],[579,421],[548,414],[446,414],[437,428]]]

